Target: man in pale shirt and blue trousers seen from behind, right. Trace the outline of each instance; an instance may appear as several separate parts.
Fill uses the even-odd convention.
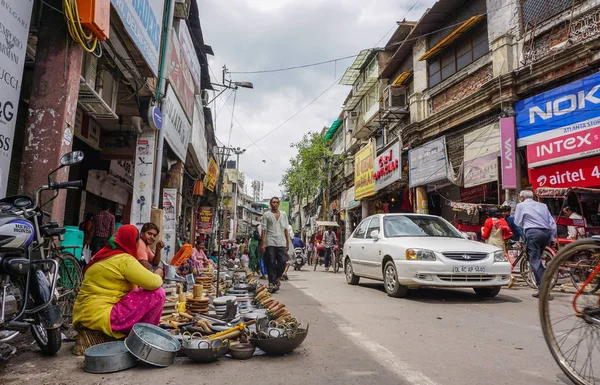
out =
[[[533,297],[538,298],[545,270],[542,253],[556,238],[556,221],[548,206],[533,200],[533,191],[521,191],[519,199],[521,203],[515,209],[515,223],[525,231],[527,257],[538,285],[538,292]]]

